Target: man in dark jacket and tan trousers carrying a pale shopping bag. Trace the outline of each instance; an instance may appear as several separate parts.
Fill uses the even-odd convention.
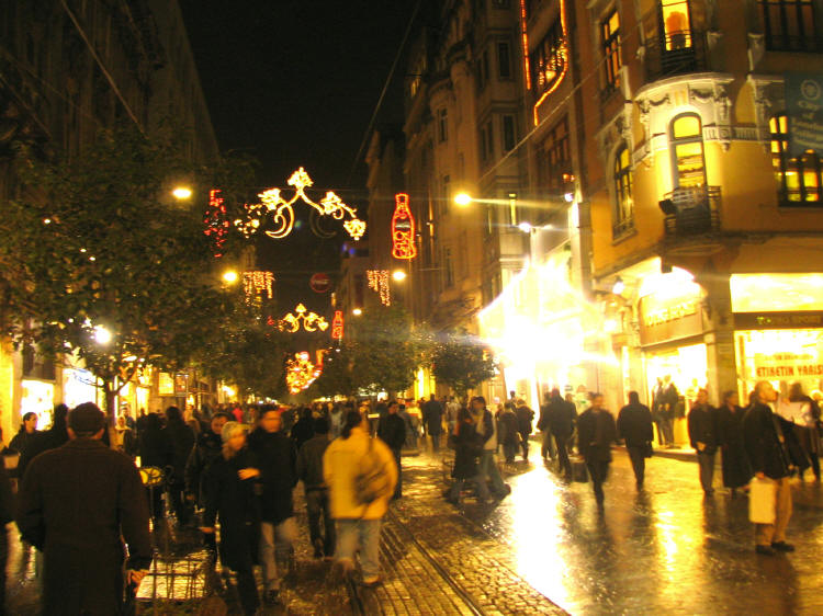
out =
[[[791,489],[789,477],[794,467],[808,468],[792,424],[775,414],[769,407],[777,400],[777,391],[767,380],[755,385],[754,401],[743,418],[743,438],[748,461],[755,477],[774,480],[775,523],[755,524],[755,550],[774,556],[776,551],[794,551],[786,543],[786,527],[791,518]]]

